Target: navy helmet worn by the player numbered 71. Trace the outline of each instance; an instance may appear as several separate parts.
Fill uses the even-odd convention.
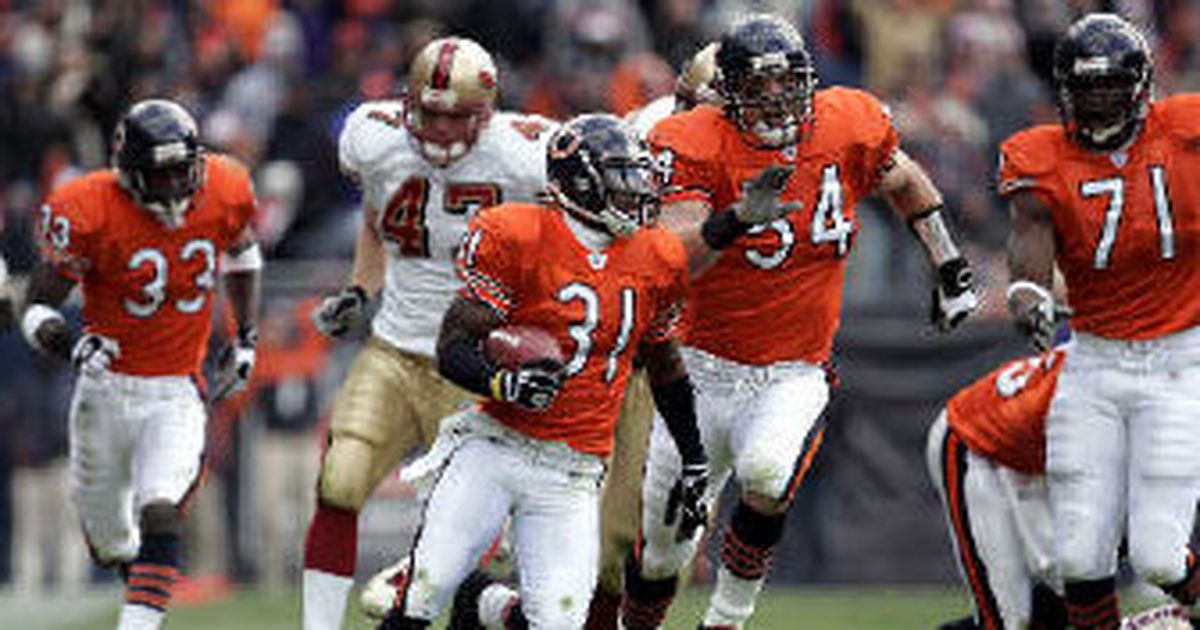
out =
[[[1054,55],[1062,124],[1072,140],[1094,151],[1129,142],[1150,110],[1153,61],[1141,32],[1112,13],[1070,25]]]

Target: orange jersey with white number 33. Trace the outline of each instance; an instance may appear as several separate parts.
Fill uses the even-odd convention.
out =
[[[112,170],[55,190],[41,208],[42,256],[82,282],[86,330],[120,344],[114,372],[200,374],[220,254],[254,212],[246,169],[218,155],[204,161],[178,229],[133,203]]]

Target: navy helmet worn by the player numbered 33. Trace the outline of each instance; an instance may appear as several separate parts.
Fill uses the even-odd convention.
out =
[[[121,187],[168,227],[184,214],[203,176],[196,120],[175,102],[151,98],[130,108],[113,137]]]

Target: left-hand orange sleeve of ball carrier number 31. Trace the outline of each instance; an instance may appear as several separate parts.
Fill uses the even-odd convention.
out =
[[[512,311],[512,289],[520,280],[516,245],[496,214],[484,211],[472,220],[455,262],[463,283],[460,294],[486,304],[502,319]]]

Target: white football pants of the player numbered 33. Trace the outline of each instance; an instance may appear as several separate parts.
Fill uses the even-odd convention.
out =
[[[71,498],[101,563],[138,553],[138,514],[179,504],[199,479],[204,403],[188,377],[79,374],[71,401]]]

